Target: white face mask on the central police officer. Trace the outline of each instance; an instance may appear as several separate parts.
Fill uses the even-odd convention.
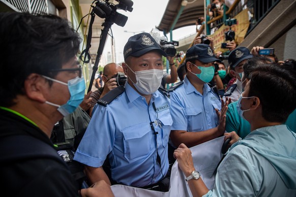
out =
[[[129,65],[126,65],[131,70]],[[131,71],[136,75],[137,82],[131,81],[140,93],[145,95],[152,94],[160,87],[163,78],[163,70],[151,69],[147,71]]]

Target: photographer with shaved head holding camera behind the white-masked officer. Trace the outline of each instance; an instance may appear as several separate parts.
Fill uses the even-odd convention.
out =
[[[122,67],[117,63],[108,63],[105,65],[103,70],[102,80],[104,82],[104,87],[91,93],[90,98],[93,98],[91,101],[91,107],[88,110],[88,115],[92,116],[94,106],[98,102],[99,98],[103,97],[110,90],[116,88],[117,84],[115,76],[119,73],[123,73]]]

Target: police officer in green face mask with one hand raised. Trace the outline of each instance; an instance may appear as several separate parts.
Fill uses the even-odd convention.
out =
[[[187,50],[187,75],[169,89],[174,147],[181,143],[192,147],[225,132],[228,102],[221,110],[219,95],[207,84],[214,77],[214,61],[220,62],[209,45],[197,44]]]

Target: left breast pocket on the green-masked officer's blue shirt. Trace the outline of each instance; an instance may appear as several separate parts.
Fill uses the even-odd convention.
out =
[[[185,115],[188,119],[187,129],[189,132],[200,132],[203,130],[203,115],[200,108],[187,108]]]

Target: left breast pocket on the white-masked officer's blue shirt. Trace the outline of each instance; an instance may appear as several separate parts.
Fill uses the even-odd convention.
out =
[[[122,129],[124,154],[127,160],[149,155],[152,150],[152,131],[148,123],[141,123]]]

